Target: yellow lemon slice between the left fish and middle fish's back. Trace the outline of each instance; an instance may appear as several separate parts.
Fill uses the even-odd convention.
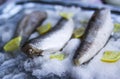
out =
[[[46,25],[43,25],[43,26],[40,26],[37,28],[37,31],[40,33],[40,34],[45,34],[47,33],[49,30],[51,30],[51,23],[47,23]]]

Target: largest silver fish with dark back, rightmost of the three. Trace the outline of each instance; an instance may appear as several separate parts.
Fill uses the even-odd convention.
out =
[[[94,57],[107,43],[112,31],[110,10],[102,8],[95,11],[88,23],[81,45],[73,57],[74,64],[81,65]]]

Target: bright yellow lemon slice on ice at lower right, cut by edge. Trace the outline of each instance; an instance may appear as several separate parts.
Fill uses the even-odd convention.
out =
[[[113,63],[120,59],[120,51],[105,51],[101,61]]]

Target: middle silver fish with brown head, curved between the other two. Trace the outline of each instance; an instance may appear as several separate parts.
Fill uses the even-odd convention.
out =
[[[44,55],[46,54],[45,51],[49,53],[58,51],[71,38],[73,30],[73,20],[70,19],[67,21],[62,18],[51,31],[43,36],[30,40],[23,45],[22,50],[29,57]]]

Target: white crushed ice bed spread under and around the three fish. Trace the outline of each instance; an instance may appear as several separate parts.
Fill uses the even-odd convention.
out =
[[[35,7],[35,5],[26,5],[26,9],[32,9],[32,7]],[[39,5],[37,5],[37,7],[39,7]],[[52,7],[50,8],[52,9]],[[57,12],[60,12],[67,9],[68,8],[63,9],[62,6],[55,6],[52,10],[58,10]],[[71,11],[74,10],[76,10],[76,15],[73,18],[76,28],[85,27],[93,11],[82,12],[80,8],[76,9],[73,7]],[[120,23],[120,16],[112,15],[112,19],[114,22]],[[17,21],[14,21],[14,19],[11,18],[7,22],[9,23],[0,26],[0,45],[3,41],[10,39],[9,35],[11,35],[11,31],[9,29],[6,31],[5,28],[10,28],[8,26],[14,25],[12,23],[16,23]],[[107,45],[99,52],[99,54],[97,54],[89,63],[81,66],[74,66],[72,63],[72,56],[80,43],[79,39],[69,40],[67,45],[61,51],[56,52],[65,55],[63,61],[50,59],[50,55],[31,59],[24,57],[20,52],[16,54],[16,56],[11,56],[10,54],[1,51],[0,79],[119,79],[120,61],[115,63],[105,63],[100,61],[105,50],[120,51],[119,35],[120,33],[113,34]]]

